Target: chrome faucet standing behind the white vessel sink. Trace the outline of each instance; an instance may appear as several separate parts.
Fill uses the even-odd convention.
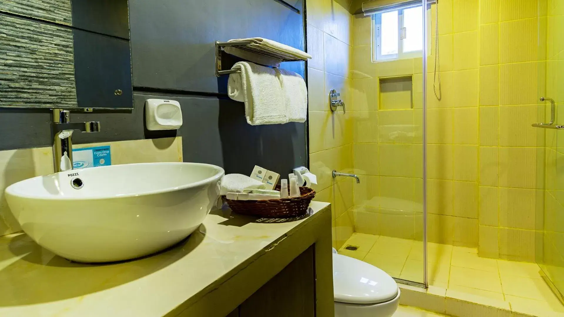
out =
[[[72,160],[72,133],[99,132],[100,122],[76,122],[70,123],[70,111],[53,109],[53,157],[55,173],[73,169]]]

